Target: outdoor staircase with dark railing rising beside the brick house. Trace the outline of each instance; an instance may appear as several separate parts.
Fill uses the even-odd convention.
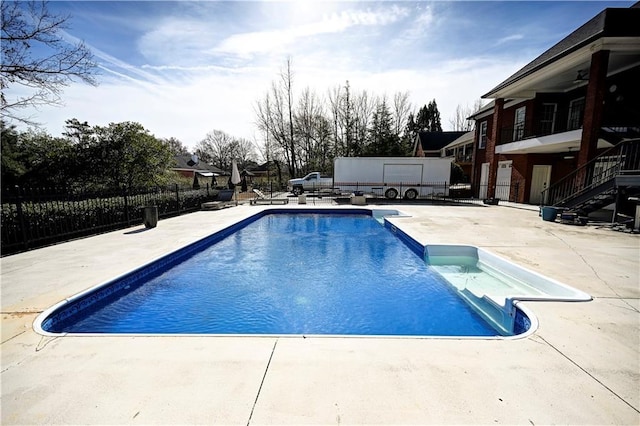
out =
[[[640,138],[625,139],[542,193],[546,205],[587,216],[616,203],[616,213],[635,213],[640,195]]]

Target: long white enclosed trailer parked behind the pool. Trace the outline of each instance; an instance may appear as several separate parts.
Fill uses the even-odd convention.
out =
[[[333,186],[340,192],[395,199],[447,196],[453,157],[339,157]]]

